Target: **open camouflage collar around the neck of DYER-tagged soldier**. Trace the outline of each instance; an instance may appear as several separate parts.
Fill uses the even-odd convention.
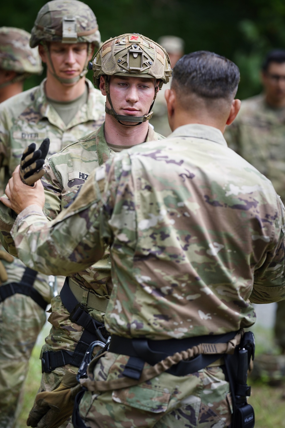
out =
[[[46,117],[48,121],[55,125],[57,128],[61,129],[62,131],[66,131],[67,129],[79,125],[80,123],[85,123],[90,120],[95,121],[98,120],[100,117],[100,114],[98,113],[97,109],[94,108],[94,104],[96,101],[96,97],[94,96],[94,92],[97,91],[97,89],[94,89],[93,84],[90,82],[90,80],[85,79],[85,82],[88,86],[88,100],[87,104],[85,104],[73,117],[72,121],[68,124],[68,127],[65,125],[65,123],[62,121],[59,114],[54,110],[54,108],[49,104],[47,101],[46,94],[44,92],[44,86],[47,78],[45,78],[40,86],[37,88],[37,92],[34,93],[35,98],[35,108],[41,113],[41,118]],[[99,92],[99,91],[98,91]],[[40,118],[40,119],[41,119]]]

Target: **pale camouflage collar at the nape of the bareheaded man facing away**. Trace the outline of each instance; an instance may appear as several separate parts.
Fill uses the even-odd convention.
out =
[[[226,140],[221,131],[213,126],[201,125],[198,123],[189,123],[188,125],[179,126],[167,138],[173,137],[194,137],[202,138],[203,140],[210,140],[214,143],[227,146]]]

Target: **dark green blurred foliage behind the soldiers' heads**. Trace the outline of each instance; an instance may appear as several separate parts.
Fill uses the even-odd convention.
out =
[[[10,0],[0,6],[0,26],[30,31],[45,0]],[[94,10],[102,40],[122,33],[151,39],[173,34],[185,52],[205,49],[227,56],[241,70],[240,98],[261,90],[259,68],[272,48],[285,48],[285,0],[85,0]],[[89,75],[89,78],[91,76]],[[41,78],[30,78],[25,89]]]

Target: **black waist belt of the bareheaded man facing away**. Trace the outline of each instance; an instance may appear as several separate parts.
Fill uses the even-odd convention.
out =
[[[175,352],[181,352],[188,348],[193,348],[200,343],[226,343],[233,339],[238,331],[211,335],[211,336],[195,336],[186,339],[167,339],[167,340],[150,340],[150,339],[127,339],[116,335],[111,336],[109,352],[115,354],[128,355],[129,360],[123,371],[123,375],[139,379],[144,367],[144,363],[149,363],[154,366],[159,361],[165,360]],[[197,372],[204,369],[214,361],[223,357],[224,354],[199,354],[190,361],[180,361],[175,366],[166,370],[174,376],[185,376],[189,373]]]

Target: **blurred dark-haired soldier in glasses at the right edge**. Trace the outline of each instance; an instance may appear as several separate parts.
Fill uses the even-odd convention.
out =
[[[272,181],[285,202],[285,50],[267,54],[261,70],[264,91],[241,103],[226,128],[229,147]],[[275,336],[285,353],[285,300],[277,303]]]

